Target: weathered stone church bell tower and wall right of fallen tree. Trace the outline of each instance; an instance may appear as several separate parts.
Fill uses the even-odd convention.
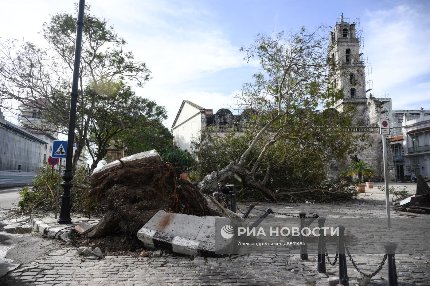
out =
[[[355,134],[365,133],[368,140],[362,145],[361,152],[353,155],[353,158],[362,159],[369,163],[375,170],[374,181],[384,180],[384,164],[382,152],[382,137],[379,134],[379,119],[390,119],[390,136],[401,133],[402,122],[399,120],[400,114],[407,117],[414,117],[416,110],[393,110],[391,98],[372,96],[372,85],[370,80],[366,79],[369,71],[366,71],[368,62],[363,57],[364,51],[362,46],[362,30],[359,30],[359,24],[344,21],[343,15],[340,22],[330,33],[332,49],[329,57],[332,61],[339,64],[342,68],[338,72],[334,85],[344,91],[344,98],[338,100],[335,105],[331,106],[335,110],[342,112],[347,106],[356,107],[356,116],[353,120],[357,128],[352,128]],[[400,128],[399,128],[400,127]],[[387,140],[387,163],[389,180],[395,180],[394,164],[391,146]],[[347,169],[350,160],[341,162],[332,159],[328,176],[337,179],[342,170]]]

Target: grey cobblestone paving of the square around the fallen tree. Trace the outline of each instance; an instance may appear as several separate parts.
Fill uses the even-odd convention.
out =
[[[376,184],[375,184],[376,185]],[[408,184],[399,184],[401,186]],[[409,186],[408,186],[409,187]],[[409,187],[412,194],[415,184]],[[247,204],[239,204],[245,209]],[[377,188],[367,190],[365,196],[345,204],[263,204],[275,211],[297,214],[317,212],[327,217],[369,218],[385,217],[384,194]],[[292,209],[289,207],[293,207]],[[279,215],[278,215],[279,216]],[[396,216],[392,212],[392,216]],[[429,219],[429,215],[419,215]],[[408,218],[405,218],[408,219]],[[382,254],[356,254],[354,260],[365,273],[371,273],[381,262]],[[333,260],[333,256],[331,255]],[[430,255],[397,254],[396,267],[399,281],[416,285],[430,285]],[[347,261],[350,285],[356,283],[358,272]],[[222,258],[163,256],[133,258],[106,256],[101,260],[83,259],[76,248],[63,248],[49,253],[32,264],[16,269],[9,278],[23,285],[328,285],[327,277],[338,275],[338,265],[326,263],[327,274],[316,271],[316,255],[303,261],[298,255],[256,254]],[[387,264],[374,280],[387,280]],[[1,283],[1,285],[4,285]],[[7,285],[7,284],[6,284]],[[14,285],[14,284],[10,284]],[[371,285],[371,284],[369,284]]]

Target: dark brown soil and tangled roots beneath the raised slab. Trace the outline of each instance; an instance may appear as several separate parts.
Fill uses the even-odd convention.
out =
[[[176,180],[169,164],[115,169],[98,179],[91,195],[106,212],[114,211],[120,230],[127,236],[135,236],[159,210],[208,215],[201,193],[189,182]]]

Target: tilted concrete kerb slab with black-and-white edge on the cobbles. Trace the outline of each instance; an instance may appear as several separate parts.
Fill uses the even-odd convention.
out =
[[[160,210],[139,231],[146,247],[167,249],[185,255],[216,256],[221,249],[232,249],[232,239],[220,239],[219,216],[192,216]]]

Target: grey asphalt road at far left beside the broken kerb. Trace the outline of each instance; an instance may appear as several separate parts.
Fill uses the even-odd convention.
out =
[[[1,209],[10,208],[15,201],[18,203],[20,189],[0,189],[0,212],[2,211]],[[21,229],[8,228],[7,226],[10,223],[0,221],[0,277],[19,265],[31,263],[34,259],[46,253],[64,247],[61,241],[43,237],[42,234],[32,231],[24,234],[13,233],[20,232],[19,230]],[[23,227],[28,228],[30,225],[24,225]],[[2,280],[3,282],[4,280]]]

